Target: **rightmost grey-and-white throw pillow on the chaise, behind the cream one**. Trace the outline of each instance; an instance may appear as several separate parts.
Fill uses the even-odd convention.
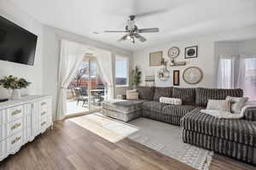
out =
[[[226,100],[231,101],[231,113],[240,113],[241,108],[246,105],[248,98],[237,98],[227,96]]]

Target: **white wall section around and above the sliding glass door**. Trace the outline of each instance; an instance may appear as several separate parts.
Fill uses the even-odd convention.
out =
[[[56,108],[57,79],[61,38],[74,42],[80,42],[90,47],[106,49],[113,54],[132,56],[132,53],[125,49],[116,48],[106,43],[98,42],[88,37],[81,37],[71,32],[62,31],[51,26],[44,26],[44,94],[49,94],[53,96],[54,109]],[[122,89],[123,88],[118,88],[118,93],[121,93]]]

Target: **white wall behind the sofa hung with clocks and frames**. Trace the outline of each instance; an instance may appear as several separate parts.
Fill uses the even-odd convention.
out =
[[[166,82],[155,81],[155,86],[172,86],[172,71],[179,70],[180,71],[180,86],[179,87],[205,87],[205,88],[215,88],[216,87],[216,78],[217,74],[217,59],[216,59],[216,43],[218,41],[229,41],[234,39],[245,39],[245,38],[256,37],[256,26],[249,26],[246,28],[234,30],[234,31],[224,31],[209,35],[207,37],[198,37],[191,38],[189,40],[183,40],[179,42],[170,42],[168,44],[161,45],[159,47],[151,47],[146,48],[141,51],[137,51],[133,55],[133,67],[138,65],[139,68],[143,71],[143,82],[141,85],[145,85],[144,77],[145,75],[156,75],[157,70],[160,67],[149,67],[149,53],[154,51],[163,51],[164,58],[168,59],[167,51],[169,48],[173,46],[177,46],[181,54],[177,57],[177,61],[187,61],[188,64],[184,66],[172,66],[169,67],[171,71],[171,77]],[[189,46],[198,45],[198,58],[194,59],[184,59],[184,48]],[[225,44],[224,44],[225,45]],[[225,45],[225,47],[221,47],[222,53],[230,53],[236,49],[235,52],[238,53],[239,45],[234,43],[232,45]],[[255,46],[254,46],[255,47]],[[202,81],[196,85],[189,85],[183,81],[183,71],[189,66],[198,66],[204,73],[204,77]]]

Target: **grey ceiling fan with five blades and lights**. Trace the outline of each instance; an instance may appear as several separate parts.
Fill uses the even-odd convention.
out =
[[[126,32],[125,36],[121,37],[118,42],[131,40],[132,43],[135,43],[135,39],[137,38],[141,42],[146,42],[147,39],[140,35],[140,33],[148,33],[148,32],[158,32],[159,28],[144,28],[138,29],[135,25],[136,15],[130,15],[127,21],[127,26],[125,26],[125,31],[105,31],[105,32]]]

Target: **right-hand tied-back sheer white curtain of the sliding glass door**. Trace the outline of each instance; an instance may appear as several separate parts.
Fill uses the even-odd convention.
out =
[[[108,94],[106,99],[113,99],[113,56],[111,52],[102,49],[96,49],[95,54],[102,78],[107,82]]]

